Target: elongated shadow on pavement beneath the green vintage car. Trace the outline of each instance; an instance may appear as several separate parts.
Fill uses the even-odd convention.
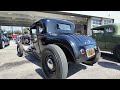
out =
[[[98,62],[98,64],[105,68],[120,70],[120,65],[118,65],[114,62]]]

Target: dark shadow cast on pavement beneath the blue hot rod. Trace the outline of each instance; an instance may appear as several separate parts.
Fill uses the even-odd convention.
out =
[[[40,68],[36,69],[35,71],[44,79],[45,77],[44,77],[44,74],[41,69],[41,61],[38,58],[36,58],[35,56],[33,56],[31,53],[28,53],[27,55],[25,55],[25,58],[27,60],[29,60],[30,62],[32,62],[33,64],[40,67]],[[74,64],[74,63],[69,63],[68,66],[69,66],[68,77],[70,77],[71,75],[77,73],[78,71],[80,71],[82,69],[87,68],[85,65]]]

